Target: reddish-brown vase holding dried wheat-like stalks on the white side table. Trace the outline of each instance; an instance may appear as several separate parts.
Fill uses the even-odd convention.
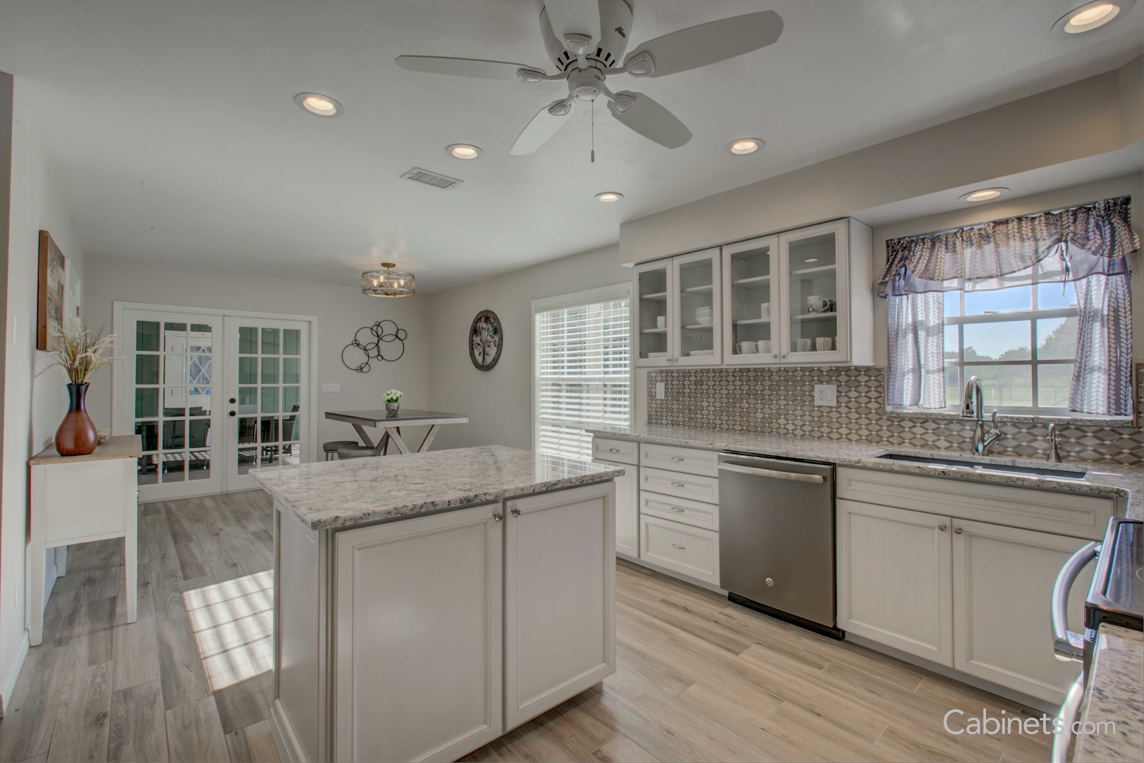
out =
[[[56,349],[51,351],[48,368],[59,366],[67,374],[67,413],[56,430],[56,451],[59,455],[87,455],[100,444],[100,434],[87,415],[85,398],[87,380],[93,373],[110,366],[119,358],[113,355],[114,334],[104,334],[101,328],[92,334],[82,324],[64,328],[57,335]]]

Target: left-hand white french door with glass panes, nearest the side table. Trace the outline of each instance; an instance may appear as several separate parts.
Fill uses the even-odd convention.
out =
[[[217,492],[216,316],[124,311],[124,429],[142,438],[141,500]]]

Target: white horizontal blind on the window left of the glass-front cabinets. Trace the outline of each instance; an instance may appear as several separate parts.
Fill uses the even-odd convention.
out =
[[[591,301],[545,309],[546,300],[534,308],[534,446],[541,453],[591,458],[585,427],[630,420],[627,288],[587,294]]]

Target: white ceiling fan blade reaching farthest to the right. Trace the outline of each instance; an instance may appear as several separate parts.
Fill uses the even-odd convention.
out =
[[[629,53],[623,62],[646,50],[656,64],[649,77],[665,77],[765,48],[781,33],[782,19],[779,15],[773,10],[762,10],[657,37]]]

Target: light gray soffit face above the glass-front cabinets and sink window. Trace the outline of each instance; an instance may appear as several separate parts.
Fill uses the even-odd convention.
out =
[[[800,228],[1123,149],[1144,137],[1141,65],[1137,57],[1120,70],[625,222],[619,262]],[[1062,108],[1071,103],[1083,106]]]

